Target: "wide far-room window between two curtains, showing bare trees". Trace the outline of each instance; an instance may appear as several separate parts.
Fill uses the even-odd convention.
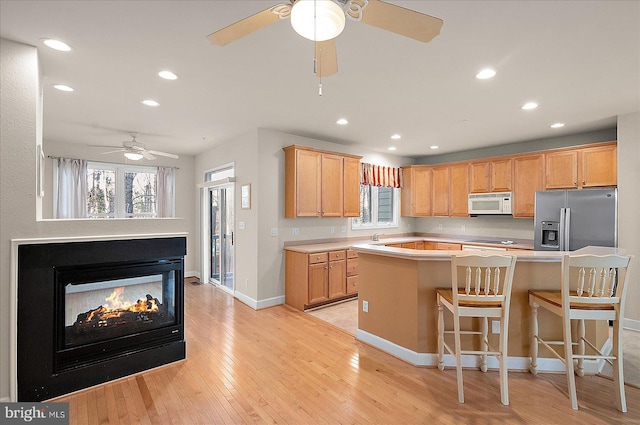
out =
[[[156,217],[157,173],[156,167],[89,162],[89,217]]]

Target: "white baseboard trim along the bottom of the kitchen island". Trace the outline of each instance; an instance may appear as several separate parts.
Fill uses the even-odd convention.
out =
[[[391,341],[379,336],[370,334],[366,331],[358,329],[356,331],[356,339],[367,343],[379,350],[391,354],[401,360],[411,363],[414,366],[438,366],[438,355],[434,353],[417,353],[405,347],[401,347]],[[445,367],[455,367],[456,359],[450,354],[444,355]],[[509,357],[507,359],[507,368],[509,371],[528,371],[531,365],[529,357]],[[480,357],[473,355],[462,356],[462,367],[478,369],[480,367]],[[498,360],[495,357],[487,358],[487,367],[489,369],[498,369]],[[600,372],[600,365],[595,360],[584,361],[584,373],[586,375],[595,375]],[[538,372],[564,372],[565,366],[562,361],[556,358],[538,358]]]

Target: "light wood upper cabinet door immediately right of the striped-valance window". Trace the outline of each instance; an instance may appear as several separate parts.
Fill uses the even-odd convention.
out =
[[[403,217],[431,215],[431,167],[415,165],[403,168],[400,214]]]

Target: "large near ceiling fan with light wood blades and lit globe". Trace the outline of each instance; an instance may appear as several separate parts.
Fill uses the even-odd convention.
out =
[[[380,0],[289,0],[224,27],[207,39],[224,46],[260,28],[290,18],[293,29],[316,41],[318,77],[338,72],[334,38],[345,25],[345,17],[428,43],[442,28],[442,19]],[[325,30],[327,33],[325,33]]]

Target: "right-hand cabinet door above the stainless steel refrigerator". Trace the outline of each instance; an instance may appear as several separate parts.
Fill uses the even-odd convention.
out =
[[[582,149],[579,171],[582,187],[617,186],[618,156],[616,145]]]

